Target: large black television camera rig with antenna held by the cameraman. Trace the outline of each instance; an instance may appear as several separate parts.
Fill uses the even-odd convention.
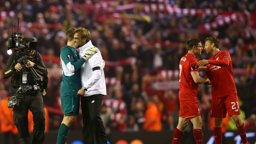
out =
[[[22,33],[18,32],[18,27],[17,32],[12,32],[8,38],[8,50],[9,49],[13,49],[15,59],[23,66],[20,70],[20,85],[15,89],[16,94],[12,94],[12,97],[8,99],[8,108],[17,108],[20,103],[20,98],[26,98],[24,95],[36,91],[42,92],[44,89],[47,89],[48,76],[44,76],[43,79],[41,79],[33,67],[26,67],[28,60],[31,62],[34,61],[34,57],[27,55],[27,53],[37,49],[37,41],[34,41],[33,38],[22,38]],[[34,80],[33,85],[28,83],[28,75]]]

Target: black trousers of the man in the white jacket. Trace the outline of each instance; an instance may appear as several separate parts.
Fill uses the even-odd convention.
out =
[[[106,132],[100,117],[103,95],[81,96],[84,144],[107,144]]]

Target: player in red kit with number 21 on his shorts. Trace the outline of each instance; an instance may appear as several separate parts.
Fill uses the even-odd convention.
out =
[[[214,117],[214,139],[222,143],[222,118],[228,111],[236,124],[243,144],[247,144],[244,122],[240,116],[240,106],[233,76],[232,60],[228,51],[219,50],[220,42],[216,37],[206,38],[204,49],[213,56],[200,60],[199,66],[206,66],[206,75],[212,82],[212,103],[210,117]]]

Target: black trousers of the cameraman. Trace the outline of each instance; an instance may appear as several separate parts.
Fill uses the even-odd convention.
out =
[[[14,124],[18,129],[20,144],[42,144],[45,137],[45,111],[42,93],[25,95],[18,108],[13,108]],[[28,109],[33,114],[33,140],[28,132]]]

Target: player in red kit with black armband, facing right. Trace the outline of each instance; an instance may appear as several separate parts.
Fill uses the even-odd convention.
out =
[[[174,131],[172,144],[178,144],[187,127],[188,121],[193,123],[193,134],[197,144],[203,144],[202,118],[197,102],[197,84],[210,84],[208,78],[199,76],[198,61],[195,58],[203,50],[199,39],[191,38],[187,41],[188,53],[180,60],[180,113],[178,126]]]

